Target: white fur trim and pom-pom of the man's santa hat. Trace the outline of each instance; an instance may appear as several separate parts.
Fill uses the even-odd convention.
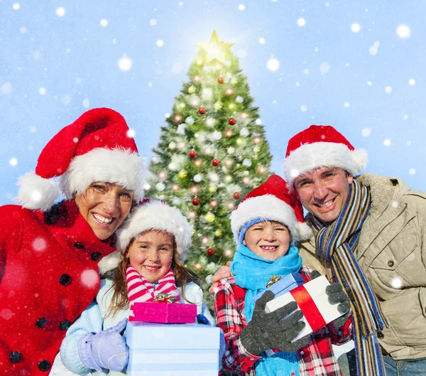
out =
[[[297,176],[313,171],[315,168],[341,167],[356,176],[366,168],[367,161],[368,156],[364,149],[351,151],[344,144],[315,142],[301,145],[290,153],[284,160],[284,176],[290,190]]]

